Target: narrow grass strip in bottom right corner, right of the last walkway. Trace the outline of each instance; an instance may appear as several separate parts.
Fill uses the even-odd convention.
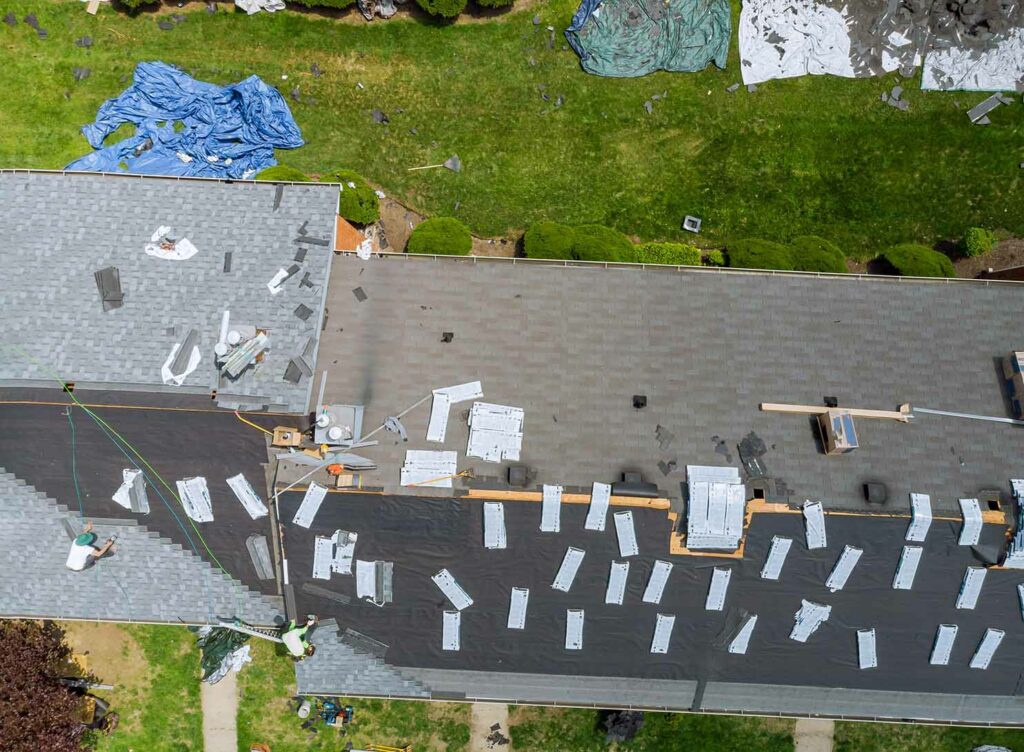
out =
[[[969,752],[982,745],[1024,749],[1024,732],[893,723],[837,723],[836,752]]]

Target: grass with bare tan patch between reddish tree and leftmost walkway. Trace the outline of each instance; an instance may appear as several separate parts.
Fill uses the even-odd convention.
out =
[[[94,694],[121,716],[96,752],[202,752],[199,649],[184,627],[62,625],[77,653],[112,691]]]

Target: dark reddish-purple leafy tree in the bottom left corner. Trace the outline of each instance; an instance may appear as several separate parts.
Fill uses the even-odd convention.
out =
[[[53,622],[0,621],[0,749],[78,752],[82,701],[60,678],[71,649]]]

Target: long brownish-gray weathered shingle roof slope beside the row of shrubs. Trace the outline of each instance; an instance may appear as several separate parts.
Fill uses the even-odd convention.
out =
[[[679,497],[685,465],[738,466],[736,445],[753,430],[768,447],[769,474],[797,500],[862,508],[862,484],[877,479],[890,506],[908,509],[913,491],[958,514],[957,497],[1007,489],[1021,472],[1024,432],[934,415],[911,425],[858,420],[860,448],[825,459],[806,416],[758,406],[821,405],[829,394],[851,407],[909,402],[1005,416],[995,360],[1021,347],[1022,296],[1020,285],[968,281],[344,256],[328,301],[344,327],[324,332],[321,361],[367,364],[332,370],[326,395],[366,400],[367,426],[431,388],[479,379],[485,402],[525,409],[521,460],[537,484],[589,491],[638,469]],[[634,409],[633,394],[647,395],[647,407]],[[452,409],[442,445],[425,441],[429,403],[411,412],[409,443],[375,447],[380,470],[362,473],[364,486],[399,492],[408,449],[462,458],[469,407]],[[664,450],[658,425],[675,436]],[[670,460],[677,466],[666,475],[658,462]],[[508,464],[459,467],[499,479]]]

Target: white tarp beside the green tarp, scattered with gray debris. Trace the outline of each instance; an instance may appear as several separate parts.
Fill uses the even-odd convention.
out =
[[[890,37],[894,47],[906,44]],[[739,59],[744,84],[776,78],[830,74],[856,78],[844,11],[811,0],[743,0],[739,13]],[[882,67],[899,61],[883,52]]]

